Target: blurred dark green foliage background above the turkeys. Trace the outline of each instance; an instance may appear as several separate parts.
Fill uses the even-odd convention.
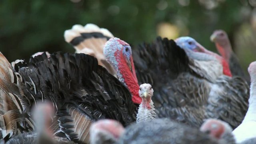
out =
[[[0,0],[0,51],[10,62],[39,51],[74,52],[64,31],[94,23],[135,45],[160,35],[191,36],[216,52],[228,33],[243,68],[256,60],[256,0]]]

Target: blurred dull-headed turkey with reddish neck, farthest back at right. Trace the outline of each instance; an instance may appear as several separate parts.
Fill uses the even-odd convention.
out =
[[[215,43],[218,52],[228,62],[232,75],[240,76],[247,80],[247,77],[239,64],[239,60],[232,50],[228,34],[224,30],[215,30],[211,35],[210,40]]]

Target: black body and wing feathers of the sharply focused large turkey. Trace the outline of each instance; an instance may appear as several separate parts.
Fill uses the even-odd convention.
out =
[[[88,128],[94,120],[116,119],[124,126],[136,120],[137,108],[128,89],[92,56],[58,52],[48,58],[44,53],[27,65],[15,66],[23,80],[26,106],[52,103],[56,116],[51,128],[56,136],[88,143]]]

